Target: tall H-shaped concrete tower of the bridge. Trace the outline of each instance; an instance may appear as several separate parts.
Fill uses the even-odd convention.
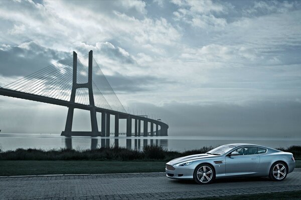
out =
[[[77,83],[77,53],[73,51],[73,79],[72,79],[72,90],[70,102],[75,102],[76,89],[78,88],[88,88],[89,91],[89,110],[91,118],[91,131],[72,131],[73,123],[73,113],[74,107],[72,105],[68,106],[68,114],[66,120],[65,130],[62,131],[61,135],[91,135],[91,136],[104,136],[104,132],[98,131],[97,118],[96,118],[96,107],[94,104],[94,96],[92,89],[92,61],[93,61],[93,51],[89,51],[89,64],[88,64],[88,82]],[[103,116],[103,114],[102,114]],[[102,122],[103,124],[103,122]]]

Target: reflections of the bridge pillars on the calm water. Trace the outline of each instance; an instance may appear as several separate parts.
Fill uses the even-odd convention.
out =
[[[142,150],[143,146],[160,145],[168,149],[168,139],[140,139],[140,138],[91,138],[91,149],[101,147],[126,147],[127,149]],[[65,148],[72,149],[72,137],[65,137]]]

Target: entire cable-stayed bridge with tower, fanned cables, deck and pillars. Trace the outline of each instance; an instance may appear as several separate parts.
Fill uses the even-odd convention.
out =
[[[161,120],[126,113],[93,58],[92,50],[81,58],[73,52],[73,56],[0,87],[0,95],[67,106],[65,130],[61,135],[110,136],[111,115],[115,116],[113,133],[115,136],[119,135],[119,119],[126,119],[126,136],[153,136],[168,133],[168,124]],[[91,131],[72,130],[75,108],[90,111]],[[98,127],[96,112],[101,112],[100,127]]]

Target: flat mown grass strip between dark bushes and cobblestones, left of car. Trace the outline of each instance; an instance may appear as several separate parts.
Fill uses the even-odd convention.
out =
[[[0,175],[164,172],[165,161],[0,160]]]

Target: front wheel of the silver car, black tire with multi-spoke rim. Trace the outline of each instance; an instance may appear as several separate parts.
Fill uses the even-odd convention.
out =
[[[210,164],[200,164],[196,167],[193,177],[198,184],[210,184],[215,177],[215,170]]]

